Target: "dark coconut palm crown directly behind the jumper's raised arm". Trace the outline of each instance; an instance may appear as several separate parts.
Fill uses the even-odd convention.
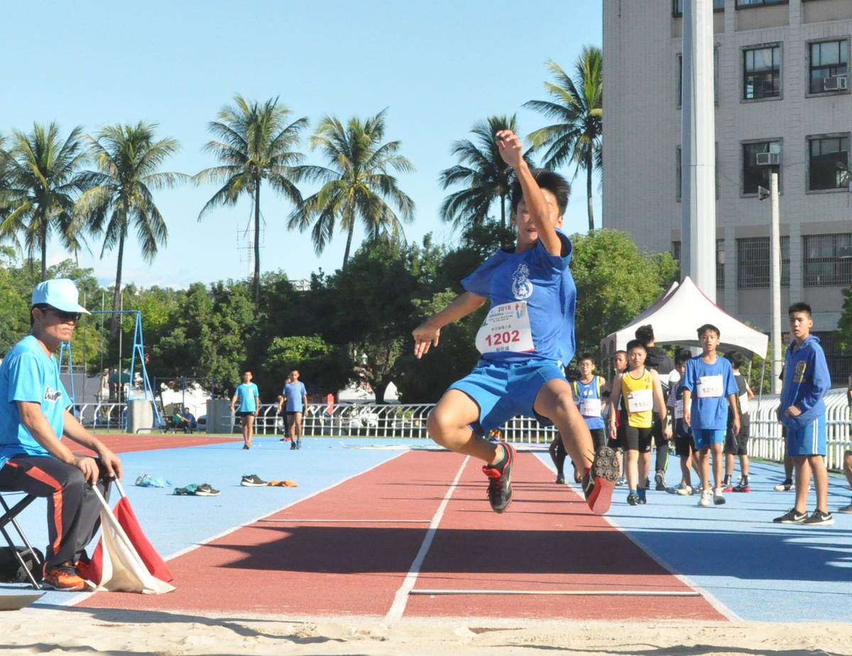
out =
[[[475,140],[459,140],[452,145],[452,154],[461,163],[441,171],[438,181],[443,189],[465,185],[454,191],[440,204],[440,217],[458,226],[482,225],[495,200],[500,203],[500,223],[506,227],[506,205],[512,184],[512,168],[503,161],[494,134],[498,130],[517,131],[515,114],[511,117],[488,117],[475,123],[470,130]],[[527,155],[524,155],[530,163]]]

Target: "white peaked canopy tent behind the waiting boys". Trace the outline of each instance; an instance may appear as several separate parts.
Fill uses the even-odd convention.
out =
[[[705,323],[719,328],[719,351],[744,351],[745,355],[766,357],[769,337],[745,323],[734,319],[708,299],[689,278],[673,282],[646,311],[633,322],[601,340],[601,356],[613,357],[615,351],[624,351],[627,342],[635,339],[636,328],[650,323],[658,344],[699,346],[696,330]]]

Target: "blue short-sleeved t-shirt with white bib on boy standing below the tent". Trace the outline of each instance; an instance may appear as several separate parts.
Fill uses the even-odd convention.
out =
[[[692,393],[693,429],[724,431],[728,426],[728,396],[740,391],[731,362],[722,356],[713,364],[707,364],[701,356],[689,358],[683,387]]]

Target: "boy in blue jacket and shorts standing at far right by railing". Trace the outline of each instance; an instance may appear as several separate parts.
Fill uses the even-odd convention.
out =
[[[793,341],[784,357],[779,419],[786,428],[787,453],[796,470],[796,505],[774,522],[830,526],[828,471],[826,470],[826,402],[831,385],[826,355],[820,339],[810,334],[814,326],[810,305],[794,303],[788,311]],[[810,472],[814,472],[816,510],[808,516]]]

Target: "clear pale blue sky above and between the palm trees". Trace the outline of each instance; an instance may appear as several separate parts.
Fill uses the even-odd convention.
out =
[[[347,120],[388,108],[386,140],[417,168],[400,187],[417,203],[406,237],[432,232],[457,241],[438,217],[449,191],[438,184],[456,163],[452,143],[469,136],[476,121],[517,112],[522,135],[548,122],[521,108],[544,100],[544,61],[573,70],[584,44],[602,43],[602,0],[437,0],[353,2],[48,2],[4,6],[0,59],[4,68],[0,132],[32,130],[34,121],[57,121],[67,134],[76,125],[94,134],[103,123],[159,124],[158,136],[175,137],[181,151],[165,170],[196,174],[216,164],[201,148],[207,123],[236,93],[267,100],[279,96],[293,117],[308,117],[310,132],[327,115]],[[321,163],[302,145],[308,163]],[[573,169],[563,173],[573,174]],[[585,231],[584,179],[566,214],[565,230]],[[250,275],[246,229],[251,204],[197,217],[215,187],[184,185],[159,191],[155,200],[169,226],[169,241],[149,266],[135,236],[125,250],[124,282],[186,287]],[[343,261],[345,235],[314,254],[308,234],[287,231],[291,206],[268,188],[261,200],[265,225],[263,271],[283,270],[291,280]],[[304,187],[302,193],[314,191]],[[596,224],[601,207],[596,183]],[[496,206],[492,210],[497,214]],[[355,233],[354,245],[363,235]],[[103,285],[115,278],[115,253],[101,246],[80,264]],[[68,257],[55,244],[49,263]]]

